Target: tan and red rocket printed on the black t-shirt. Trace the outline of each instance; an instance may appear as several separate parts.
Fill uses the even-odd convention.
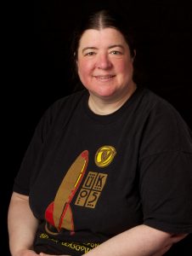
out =
[[[50,203],[46,209],[45,219],[48,224],[54,226],[57,233],[61,229],[70,230],[71,234],[74,233],[74,222],[70,204],[73,196],[76,194],[76,190],[82,182],[87,166],[88,150],[85,150],[76,158],[68,172],[66,172],[54,201]],[[48,229],[48,224],[46,224],[48,233],[55,234],[55,232],[53,233]]]

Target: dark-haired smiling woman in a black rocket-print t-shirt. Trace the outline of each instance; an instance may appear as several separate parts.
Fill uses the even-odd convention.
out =
[[[13,256],[156,256],[192,232],[189,128],[133,81],[124,25],[102,10],[74,38],[87,90],[37,125],[8,211]]]

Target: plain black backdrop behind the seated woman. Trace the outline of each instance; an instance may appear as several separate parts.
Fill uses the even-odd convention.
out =
[[[192,128],[192,13],[190,1],[71,1],[12,3],[6,9],[2,96],[3,237],[14,176],[42,113],[74,90],[71,33],[92,10],[113,7],[129,15],[136,34],[142,83],[167,99]],[[172,255],[190,255],[189,236]],[[192,250],[191,250],[192,251]],[[4,255],[8,255],[5,253]]]

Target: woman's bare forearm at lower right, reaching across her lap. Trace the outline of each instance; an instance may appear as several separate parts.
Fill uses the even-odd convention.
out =
[[[171,235],[141,224],[110,238],[86,256],[161,256],[185,236]]]

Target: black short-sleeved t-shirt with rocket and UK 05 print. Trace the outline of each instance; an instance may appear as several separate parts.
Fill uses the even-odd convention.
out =
[[[139,88],[98,115],[82,90],[43,115],[15,178],[40,220],[37,252],[79,255],[138,224],[192,232],[192,138],[178,112]]]

